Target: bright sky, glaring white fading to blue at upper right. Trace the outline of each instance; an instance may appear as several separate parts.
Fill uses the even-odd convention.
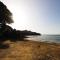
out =
[[[41,34],[60,34],[60,0],[0,0],[13,14],[10,26]]]

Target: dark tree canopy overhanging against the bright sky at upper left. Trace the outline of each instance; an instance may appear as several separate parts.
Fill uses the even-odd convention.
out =
[[[0,23],[10,24],[13,23],[12,13],[9,11],[6,5],[0,1]]]

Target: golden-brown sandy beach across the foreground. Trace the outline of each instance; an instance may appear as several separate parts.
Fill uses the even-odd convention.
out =
[[[9,48],[0,49],[0,60],[60,60],[60,44],[36,41],[5,42]]]

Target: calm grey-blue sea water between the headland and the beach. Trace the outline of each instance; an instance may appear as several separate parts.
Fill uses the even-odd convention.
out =
[[[29,40],[60,43],[60,35],[29,36]]]

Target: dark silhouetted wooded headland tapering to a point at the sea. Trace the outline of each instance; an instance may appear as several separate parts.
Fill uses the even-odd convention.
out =
[[[28,30],[24,30],[24,31],[16,30],[8,25],[5,25],[4,29],[2,28],[2,31],[0,33],[0,39],[19,40],[19,39],[24,39],[27,36],[31,36],[31,35],[41,35],[41,34],[37,32],[28,31]]]

